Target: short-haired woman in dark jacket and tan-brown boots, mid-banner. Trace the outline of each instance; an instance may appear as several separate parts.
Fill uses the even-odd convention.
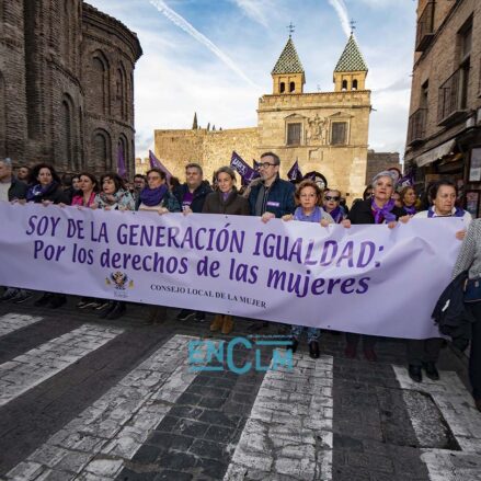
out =
[[[217,191],[207,195],[203,214],[227,214],[229,216],[249,216],[250,205],[245,197],[239,195],[236,188],[236,174],[230,167],[221,167],[214,176]],[[233,329],[231,316],[216,314],[210,324],[210,331],[221,330],[229,334]]]

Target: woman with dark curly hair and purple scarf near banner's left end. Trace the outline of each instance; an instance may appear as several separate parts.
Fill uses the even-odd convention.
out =
[[[45,206],[68,203],[69,198],[61,188],[60,177],[55,169],[48,163],[39,163],[32,169],[30,188],[26,193],[26,202],[43,204]],[[67,302],[65,294],[44,293],[34,302],[35,307],[47,306],[57,309]]]

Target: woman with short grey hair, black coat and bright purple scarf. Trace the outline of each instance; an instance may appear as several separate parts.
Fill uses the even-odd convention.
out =
[[[371,183],[373,196],[353,205],[347,216],[351,224],[387,224],[389,228],[393,228],[396,221],[405,215],[403,209],[396,207],[394,201],[391,198],[394,192],[394,175],[390,171],[379,172],[375,175]],[[360,334],[346,333],[345,355],[347,357],[356,357],[359,339]],[[364,356],[367,360],[377,360],[375,345],[375,336],[363,335]]]

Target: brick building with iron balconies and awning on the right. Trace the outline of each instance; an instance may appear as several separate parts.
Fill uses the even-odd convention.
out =
[[[449,176],[481,197],[478,0],[419,0],[405,163],[420,187]]]

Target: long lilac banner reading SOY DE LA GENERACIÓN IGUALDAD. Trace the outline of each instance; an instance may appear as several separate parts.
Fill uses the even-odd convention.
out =
[[[0,203],[0,284],[373,335],[438,335],[458,218],[394,229]]]

